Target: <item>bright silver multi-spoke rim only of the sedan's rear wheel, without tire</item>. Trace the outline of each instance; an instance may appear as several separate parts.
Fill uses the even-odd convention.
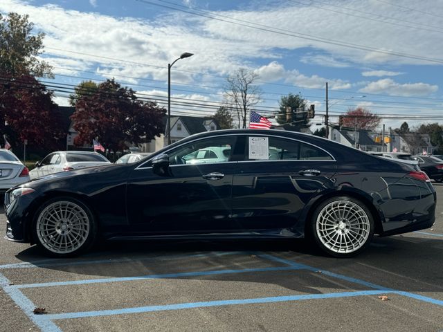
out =
[[[370,236],[370,219],[352,201],[334,201],[318,214],[316,232],[321,243],[337,253],[359,250]]]

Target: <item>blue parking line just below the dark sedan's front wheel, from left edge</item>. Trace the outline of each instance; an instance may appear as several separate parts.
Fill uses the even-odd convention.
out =
[[[69,261],[67,259],[46,259],[44,261],[28,262],[24,261],[21,263],[13,264],[3,264],[0,265],[0,270],[5,270],[8,268],[46,268],[53,266],[76,266],[76,265],[87,265],[87,264],[109,264],[109,263],[130,263],[133,261],[151,261],[151,260],[161,260],[166,261],[170,259],[180,259],[180,258],[198,258],[198,257],[210,257],[213,256],[224,256],[224,255],[239,255],[244,254],[244,252],[239,251],[226,251],[226,252],[205,252],[201,254],[192,255],[173,255],[167,257],[142,257],[142,258],[122,258],[122,259],[95,259],[95,260],[84,260],[84,261]]]

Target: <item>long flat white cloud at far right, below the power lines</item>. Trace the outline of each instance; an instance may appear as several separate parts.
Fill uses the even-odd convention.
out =
[[[390,78],[371,82],[359,91],[363,93],[383,93],[388,95],[399,95],[402,97],[430,95],[438,90],[437,85],[426,83],[400,84]]]

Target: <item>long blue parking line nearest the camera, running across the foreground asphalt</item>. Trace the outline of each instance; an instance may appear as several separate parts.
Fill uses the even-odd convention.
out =
[[[338,297],[354,297],[363,295],[378,295],[385,293],[383,291],[356,291],[356,292],[343,292],[343,293],[326,293],[326,294],[307,294],[307,295],[291,295],[291,296],[277,296],[277,297],[258,297],[253,299],[226,299],[221,301],[208,301],[208,302],[190,302],[180,304],[165,304],[161,306],[140,306],[136,308],[122,308],[114,310],[102,310],[102,311],[83,311],[78,313],[55,313],[47,315],[50,320],[66,320],[71,318],[84,318],[84,317],[98,317],[109,315],[124,315],[128,313],[149,313],[152,311],[173,311],[180,309],[190,308],[204,308],[209,306],[233,306],[238,304],[263,304],[263,303],[275,303],[275,302],[291,302],[300,301],[304,299],[332,299]]]

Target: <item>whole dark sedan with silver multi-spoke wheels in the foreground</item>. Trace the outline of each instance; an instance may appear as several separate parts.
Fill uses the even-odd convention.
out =
[[[207,152],[217,149],[223,158]],[[98,236],[309,237],[329,255],[350,257],[373,234],[431,227],[429,181],[411,165],[316,136],[210,131],[133,164],[53,174],[9,190],[6,238],[69,257]]]

